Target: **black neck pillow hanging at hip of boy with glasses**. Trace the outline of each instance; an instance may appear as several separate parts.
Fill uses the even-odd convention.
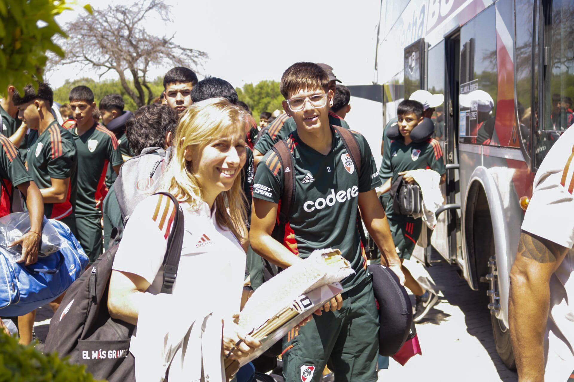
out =
[[[413,306],[397,275],[381,264],[369,265],[373,291],[379,305],[379,354],[393,356],[400,351],[413,324]]]

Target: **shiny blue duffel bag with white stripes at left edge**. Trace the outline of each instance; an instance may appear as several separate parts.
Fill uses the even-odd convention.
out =
[[[0,246],[0,316],[23,316],[51,302],[80,277],[89,259],[69,228],[49,220],[61,238],[60,249],[25,266],[10,261],[13,254]]]

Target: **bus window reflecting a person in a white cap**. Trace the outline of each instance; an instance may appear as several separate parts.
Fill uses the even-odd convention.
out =
[[[491,143],[497,85],[495,10],[490,7],[460,29],[460,143]]]

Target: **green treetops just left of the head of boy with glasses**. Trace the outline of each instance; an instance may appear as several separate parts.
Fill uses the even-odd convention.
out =
[[[259,120],[262,112],[273,113],[275,109],[283,110],[281,101],[284,97],[279,91],[279,82],[261,81],[257,85],[245,84],[243,89],[236,88],[239,100],[251,108],[255,120]]]

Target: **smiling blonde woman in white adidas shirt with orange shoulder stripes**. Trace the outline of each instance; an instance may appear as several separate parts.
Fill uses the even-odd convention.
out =
[[[174,152],[164,175],[165,191],[179,201],[185,234],[173,296],[190,315],[209,309],[223,319],[222,352],[240,359],[261,345],[238,331],[245,276],[245,195],[239,173],[246,161],[242,108],[222,98],[192,104],[176,128]],[[146,294],[161,290],[166,238],[175,215],[164,195],[138,204],[115,255],[108,309],[113,318],[137,324]],[[161,323],[158,322],[158,325]]]

